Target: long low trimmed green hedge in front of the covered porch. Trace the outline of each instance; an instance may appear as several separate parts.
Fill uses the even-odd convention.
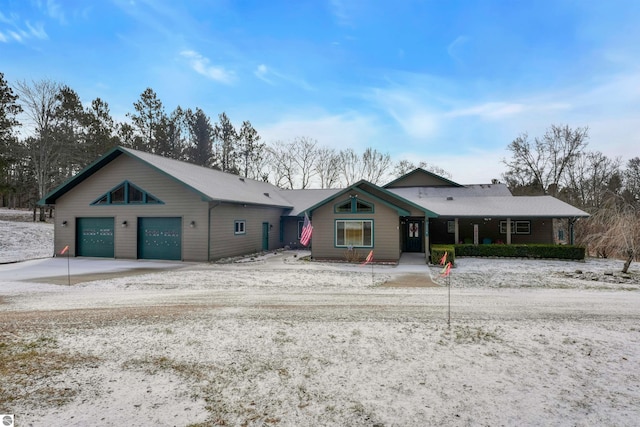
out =
[[[572,245],[453,245],[456,256],[584,260],[585,248]]]

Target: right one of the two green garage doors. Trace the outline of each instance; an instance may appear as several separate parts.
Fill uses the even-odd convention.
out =
[[[182,259],[182,218],[138,218],[138,258]]]

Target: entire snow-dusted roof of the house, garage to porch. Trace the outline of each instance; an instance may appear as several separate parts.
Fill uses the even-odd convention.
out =
[[[363,192],[408,215],[412,208],[428,217],[587,217],[586,212],[551,196],[513,196],[504,184],[462,186],[416,169],[384,187],[359,181],[343,189],[282,190],[267,182],[197,166],[130,148],[116,147],[46,195],[38,204],[56,200],[119,156],[129,156],[174,179],[205,201],[279,207],[287,215],[312,211],[341,194]],[[434,181],[435,180],[435,181]],[[424,182],[423,186],[407,186]],[[435,183],[435,185],[434,185]]]

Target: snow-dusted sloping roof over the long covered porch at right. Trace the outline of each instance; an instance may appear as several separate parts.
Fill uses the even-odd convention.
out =
[[[389,191],[441,217],[577,218],[589,214],[551,196],[513,196],[503,184]]]

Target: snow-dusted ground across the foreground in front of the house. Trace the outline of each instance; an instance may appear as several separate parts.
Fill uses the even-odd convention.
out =
[[[638,425],[637,265],[623,277],[612,260],[459,259],[449,325],[445,286],[387,287],[407,272],[302,255],[0,283],[0,413],[32,426]],[[411,274],[444,285],[438,271]]]

